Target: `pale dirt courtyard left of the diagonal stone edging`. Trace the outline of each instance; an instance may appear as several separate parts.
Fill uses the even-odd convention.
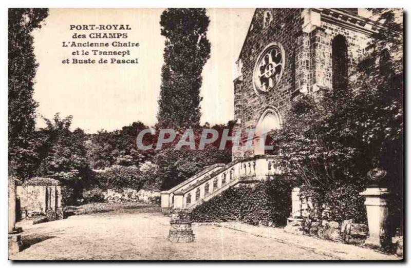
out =
[[[268,238],[212,225],[193,225],[192,243],[167,241],[160,213],[90,214],[24,224],[24,250],[13,260],[326,260],[330,257]],[[21,224],[22,225],[22,224]]]

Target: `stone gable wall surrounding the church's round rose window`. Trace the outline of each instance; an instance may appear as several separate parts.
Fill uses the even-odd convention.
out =
[[[289,107],[295,90],[295,52],[302,45],[303,9],[271,9],[272,22],[264,28],[266,9],[256,9],[248,36],[241,50],[241,83],[235,81],[237,102],[235,117],[241,117],[241,129],[255,128],[258,119],[268,106],[274,106],[282,117]],[[257,94],[253,88],[253,72],[258,55],[270,43],[277,42],[285,50],[285,67],[279,84],[266,94]],[[240,95],[240,96],[237,96]],[[241,109],[238,109],[241,105]],[[243,133],[245,134],[245,132]]]

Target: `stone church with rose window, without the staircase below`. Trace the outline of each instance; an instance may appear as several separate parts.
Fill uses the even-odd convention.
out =
[[[281,126],[293,99],[346,85],[378,25],[365,9],[256,9],[236,63],[243,149],[233,160],[265,154],[258,136]],[[249,129],[256,130],[253,150],[245,148]]]

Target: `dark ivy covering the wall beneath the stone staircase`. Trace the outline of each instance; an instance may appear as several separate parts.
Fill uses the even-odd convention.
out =
[[[292,180],[276,177],[259,182],[255,187],[239,185],[230,188],[196,207],[192,213],[193,220],[240,220],[253,225],[285,225],[291,213],[293,184]]]

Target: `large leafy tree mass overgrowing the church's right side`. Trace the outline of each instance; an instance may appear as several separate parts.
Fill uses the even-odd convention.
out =
[[[360,220],[358,193],[372,168],[388,171],[387,186],[402,200],[402,28],[393,12],[380,18],[385,28],[372,36],[348,87],[293,102],[283,128],[272,133],[285,172]],[[401,207],[393,208],[401,214]]]

